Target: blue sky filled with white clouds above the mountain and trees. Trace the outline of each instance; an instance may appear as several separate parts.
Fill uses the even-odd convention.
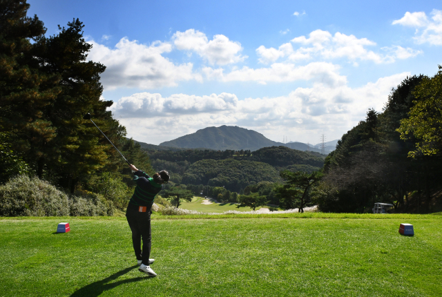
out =
[[[79,18],[128,137],[206,126],[340,138],[407,75],[442,64],[441,1],[29,0],[57,34]]]

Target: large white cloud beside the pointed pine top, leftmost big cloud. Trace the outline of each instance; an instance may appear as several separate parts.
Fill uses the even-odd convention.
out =
[[[201,76],[193,73],[193,64],[175,65],[162,56],[171,52],[169,43],[155,41],[150,46],[139,44],[136,40],[122,38],[115,48],[108,48],[95,41],[88,59],[106,66],[102,74],[102,84],[106,90],[115,88],[152,89],[164,86],[177,86],[177,82],[192,79],[201,80]]]

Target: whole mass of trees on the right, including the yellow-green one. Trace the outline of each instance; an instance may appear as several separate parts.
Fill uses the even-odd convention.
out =
[[[374,202],[390,202],[396,211],[440,211],[441,91],[441,66],[434,77],[407,77],[383,113],[369,110],[345,133],[325,160],[320,209],[364,212]]]

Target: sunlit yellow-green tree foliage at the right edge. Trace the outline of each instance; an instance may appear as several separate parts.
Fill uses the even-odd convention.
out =
[[[442,147],[442,66],[434,77],[423,77],[413,94],[415,105],[410,108],[409,117],[401,119],[397,131],[403,140],[410,135],[418,140],[416,149],[408,153],[410,157],[434,155]]]

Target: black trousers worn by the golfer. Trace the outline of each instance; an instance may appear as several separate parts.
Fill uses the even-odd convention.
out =
[[[152,231],[151,231],[151,210],[140,213],[138,209],[126,210],[126,218],[132,231],[133,251],[137,260],[142,260],[143,264],[149,265],[149,257],[151,256],[152,247]],[[141,248],[141,240],[143,240],[143,249]]]

